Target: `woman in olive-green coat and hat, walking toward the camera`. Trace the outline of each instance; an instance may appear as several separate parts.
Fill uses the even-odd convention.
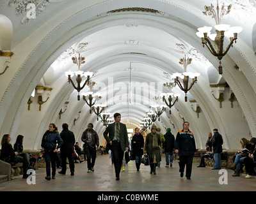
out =
[[[155,125],[151,128],[151,133],[148,133],[145,141],[145,150],[147,151],[149,164],[150,164],[150,174],[154,172],[156,175],[156,165],[160,161],[160,148],[161,140],[160,135],[156,133],[157,127]]]

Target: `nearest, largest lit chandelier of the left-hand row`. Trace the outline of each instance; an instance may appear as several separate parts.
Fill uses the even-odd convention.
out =
[[[74,62],[74,64],[77,64],[78,71],[66,71],[65,72],[65,75],[68,77],[68,83],[69,84],[71,83],[72,86],[74,87],[74,89],[76,89],[78,92],[77,101],[80,101],[79,92],[84,88],[84,86],[87,84],[87,82],[90,81],[90,77],[92,77],[92,75],[93,75],[93,73],[90,71],[83,72],[80,70],[81,64],[84,64],[84,62],[85,62],[84,59],[85,59],[84,57],[80,57],[80,54],[78,56],[78,59],[77,59],[77,57],[72,57],[72,61]],[[74,75],[76,75],[77,87],[71,79]],[[87,77],[86,81],[84,82],[83,85],[81,85],[81,82],[83,80],[82,77]]]

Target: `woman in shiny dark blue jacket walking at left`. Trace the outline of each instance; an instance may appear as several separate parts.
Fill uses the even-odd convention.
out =
[[[56,157],[57,150],[60,149],[63,141],[58,132],[58,128],[54,123],[49,124],[49,129],[45,131],[42,138],[41,147],[44,148],[45,164],[46,164],[46,180],[51,180],[51,164],[52,179],[56,175]]]

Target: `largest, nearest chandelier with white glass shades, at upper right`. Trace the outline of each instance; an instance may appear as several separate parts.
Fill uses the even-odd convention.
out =
[[[204,15],[212,15],[212,18],[215,19],[216,25],[214,26],[214,28],[216,29],[216,34],[211,34],[212,27],[206,26],[198,28],[199,32],[196,33],[196,35],[202,39],[203,47],[205,45],[210,50],[212,55],[218,57],[220,61],[220,65],[218,67],[220,74],[223,73],[221,59],[225,56],[225,54],[227,54],[229,48],[232,47],[234,41],[236,43],[237,34],[243,30],[242,27],[230,27],[230,25],[221,24],[221,17],[223,17],[223,15],[227,15],[230,12],[231,7],[231,4],[229,6],[224,6],[223,3],[220,10],[218,0],[216,7],[217,11],[214,10],[214,6],[212,6],[212,4],[211,6],[204,6]],[[209,40],[208,36],[212,41],[214,41],[214,46],[212,46],[212,43]],[[227,36],[230,39],[226,50],[224,50],[223,48],[224,36]]]

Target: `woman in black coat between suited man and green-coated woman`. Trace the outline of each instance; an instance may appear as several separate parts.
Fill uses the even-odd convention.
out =
[[[137,171],[140,171],[140,164],[143,156],[144,138],[141,135],[139,128],[135,128],[134,131],[135,133],[132,137],[132,154],[135,156]]]

